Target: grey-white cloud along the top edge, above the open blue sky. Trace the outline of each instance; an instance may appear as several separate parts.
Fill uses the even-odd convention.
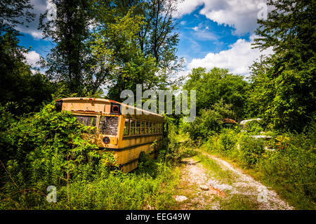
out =
[[[258,14],[262,15],[263,0],[185,0],[178,4],[180,16],[190,14],[198,6],[203,6],[199,14],[205,15],[218,25],[235,28],[235,34],[241,35],[256,29]],[[270,8],[267,8],[269,11]]]

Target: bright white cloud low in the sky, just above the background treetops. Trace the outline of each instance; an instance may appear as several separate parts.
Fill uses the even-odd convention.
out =
[[[234,44],[230,45],[230,49],[220,51],[219,53],[208,53],[204,58],[194,58],[187,65],[188,70],[194,67],[213,67],[228,68],[233,74],[249,74],[249,66],[260,57],[260,55],[268,55],[272,53],[269,48],[260,51],[258,48],[252,49],[251,43],[254,42],[255,35],[251,35],[250,41],[238,39]]]

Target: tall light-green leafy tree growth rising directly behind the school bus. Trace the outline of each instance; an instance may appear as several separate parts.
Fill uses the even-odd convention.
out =
[[[136,84],[143,84],[143,90],[163,89],[175,84],[170,78],[182,67],[176,56],[175,2],[116,0],[93,4],[99,46],[103,46],[107,60],[112,60],[107,67],[119,68],[115,74],[110,72],[107,96],[119,99],[122,90],[135,91]],[[115,27],[115,24],[118,25]],[[129,33],[121,32],[122,27]],[[129,50],[122,51],[125,48]],[[104,58],[104,53],[96,55],[100,59]]]

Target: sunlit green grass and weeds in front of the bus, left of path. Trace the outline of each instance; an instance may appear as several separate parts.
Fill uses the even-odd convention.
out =
[[[154,176],[146,172],[109,173],[93,181],[57,186],[56,203],[48,203],[46,195],[29,194],[23,196],[24,206],[6,202],[1,203],[0,209],[170,209],[175,203],[172,195],[179,170],[159,162],[154,164]]]

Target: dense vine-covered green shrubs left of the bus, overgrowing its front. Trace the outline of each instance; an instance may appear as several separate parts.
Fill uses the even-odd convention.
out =
[[[7,112],[2,111],[1,117],[5,116]],[[3,126],[6,130],[0,141],[1,161],[6,168],[1,173],[6,174],[1,178],[4,192],[24,187],[43,192],[48,185],[89,180],[96,173],[103,175],[107,162],[114,162],[81,138],[81,134],[91,131],[88,126],[79,124],[70,112],[55,112],[55,105],[46,105],[39,113],[10,122]],[[21,200],[31,203],[33,197],[25,195]]]

